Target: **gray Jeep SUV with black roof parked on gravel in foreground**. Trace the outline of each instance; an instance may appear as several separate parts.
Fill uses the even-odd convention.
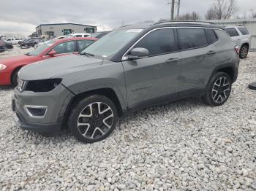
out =
[[[221,106],[238,77],[238,47],[225,28],[143,23],[112,31],[80,55],[20,70],[12,97],[20,128],[43,135],[67,127],[80,141],[105,139],[118,117],[192,95]]]

